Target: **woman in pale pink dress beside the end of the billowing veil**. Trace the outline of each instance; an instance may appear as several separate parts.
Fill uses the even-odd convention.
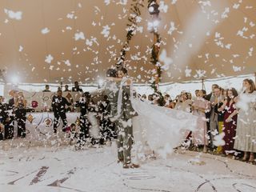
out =
[[[203,90],[198,91],[198,98],[194,100],[192,108],[193,114],[199,117],[197,129],[192,132],[192,141],[195,146],[202,145],[203,152],[206,152],[206,145],[208,144],[206,110],[209,110],[209,103],[203,98]]]

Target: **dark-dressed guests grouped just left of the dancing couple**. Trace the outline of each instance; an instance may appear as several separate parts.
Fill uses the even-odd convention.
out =
[[[75,129],[76,125],[68,125],[66,120],[66,106],[74,105],[80,109],[79,130]],[[90,92],[84,92],[78,102],[69,102],[62,97],[62,90],[57,91],[57,95],[52,99],[52,110],[54,112],[54,133],[57,133],[57,126],[62,119],[63,132],[70,132],[77,140],[77,146],[85,146],[86,142],[94,144],[105,144],[116,138],[114,123],[110,122],[109,101],[106,96],[103,98],[92,97]],[[94,120],[90,120],[91,115],[96,118],[99,133],[97,136],[91,134],[92,126],[95,126]]]

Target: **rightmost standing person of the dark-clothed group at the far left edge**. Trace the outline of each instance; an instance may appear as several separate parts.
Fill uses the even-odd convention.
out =
[[[26,137],[26,99],[22,92],[18,93],[18,98],[14,102],[15,115],[18,123],[18,137]]]

